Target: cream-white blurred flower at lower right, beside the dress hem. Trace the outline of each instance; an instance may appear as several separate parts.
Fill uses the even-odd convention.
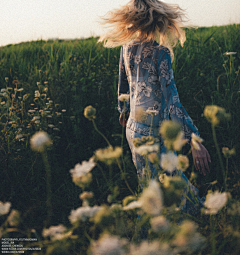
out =
[[[214,193],[208,193],[204,202],[205,207],[207,207],[205,214],[217,214],[226,205],[227,198],[228,194],[226,192],[219,193],[216,190]]]

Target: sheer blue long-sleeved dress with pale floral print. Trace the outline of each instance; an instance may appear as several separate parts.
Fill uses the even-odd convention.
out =
[[[190,142],[191,134],[199,135],[198,129],[182,106],[173,77],[171,56],[168,48],[157,42],[141,42],[133,40],[121,48],[119,61],[118,95],[129,94],[130,100],[124,103],[118,100],[120,113],[129,113],[126,125],[126,137],[132,152],[132,159],[137,168],[139,178],[143,178],[146,166],[145,158],[135,151],[134,138],[142,136],[158,136],[163,120],[174,120],[181,123],[185,138]],[[157,112],[153,117],[147,110]],[[151,125],[152,123],[152,125]],[[160,139],[160,154],[166,152],[163,140]],[[157,169],[147,162],[152,178],[158,174]],[[166,173],[169,175],[169,173]],[[203,206],[205,198],[199,197],[199,191],[181,171],[174,171],[186,181],[185,195],[182,196],[181,210],[196,214]],[[194,194],[195,199],[192,194]],[[192,200],[186,199],[186,195]],[[198,203],[196,203],[196,198]]]

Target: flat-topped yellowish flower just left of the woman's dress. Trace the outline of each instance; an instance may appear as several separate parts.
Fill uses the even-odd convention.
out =
[[[107,165],[111,165],[121,155],[122,147],[116,147],[115,149],[113,149],[112,146],[109,146],[106,149],[98,149],[95,151],[96,159],[104,162]]]

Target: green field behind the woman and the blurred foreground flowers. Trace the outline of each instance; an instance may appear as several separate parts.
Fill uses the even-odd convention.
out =
[[[174,49],[175,82],[181,103],[198,127],[212,159],[211,173],[204,177],[194,169],[189,155],[190,166],[186,175],[191,178],[192,173],[197,174],[192,182],[202,195],[209,190],[231,194],[228,205],[215,218],[202,215],[200,221],[195,219],[200,222],[200,233],[207,238],[201,254],[238,254],[240,25],[186,29],[186,36],[184,47],[177,45]],[[131,194],[128,186],[137,194],[135,167],[125,137],[122,141],[122,127],[118,122],[120,47],[106,49],[97,43],[97,39],[41,40],[0,48],[0,201],[11,202],[12,208],[21,214],[18,230],[4,232],[9,236],[30,235],[29,231],[35,229],[40,240],[46,219],[45,227],[64,224],[70,228],[68,216],[72,209],[81,205],[79,194],[82,189],[72,182],[69,170],[83,160],[88,161],[94,151],[108,145],[93,123],[84,117],[84,108],[88,105],[96,108],[95,123],[109,142],[113,146],[123,142],[122,167],[125,169],[124,174],[118,165],[110,167],[111,171],[105,164],[100,164],[101,171],[100,168],[93,169],[92,182],[85,189],[94,193],[92,205],[109,205],[107,197],[114,192],[115,202],[120,203]],[[237,54],[226,55],[226,52]],[[207,105],[223,107],[231,114],[230,121],[223,121],[214,128],[215,140],[211,124],[203,115]],[[46,154],[50,176],[46,175],[46,162],[41,153],[30,149],[30,138],[39,130],[46,131],[53,141]],[[235,148],[236,155],[226,159],[222,154],[223,147]],[[186,145],[182,153],[187,154],[189,149]],[[102,172],[111,179],[111,187]],[[46,205],[49,195],[46,185],[49,184],[50,216],[50,207]],[[118,189],[114,191],[115,186]],[[236,214],[227,213],[231,206],[237,208]],[[130,222],[133,216],[128,215]],[[4,223],[6,219],[7,216],[0,215],[0,237],[1,231],[9,227]],[[149,223],[149,219],[146,222]],[[57,244],[41,239],[42,251],[50,247],[42,254],[85,254],[90,240],[97,239],[102,229],[118,234],[112,226],[96,225],[94,231],[90,221],[75,225],[74,234],[81,236],[83,231],[84,237],[78,241],[74,238],[61,241],[65,253],[54,253]],[[88,229],[89,233],[86,233]],[[130,231],[129,236],[131,234]],[[157,238],[155,235],[150,237]],[[164,238],[166,241],[169,237]],[[73,253],[71,249],[76,250]]]

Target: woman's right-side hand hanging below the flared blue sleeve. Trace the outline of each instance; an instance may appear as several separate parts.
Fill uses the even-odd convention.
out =
[[[211,158],[207,149],[201,143],[198,143],[200,150],[195,149],[192,143],[190,144],[196,169],[203,175],[206,175],[207,172],[210,173],[208,162],[211,163]]]

